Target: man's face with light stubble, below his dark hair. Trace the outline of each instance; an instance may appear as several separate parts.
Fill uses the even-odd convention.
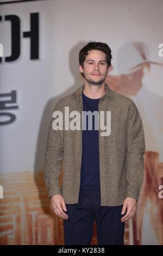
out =
[[[89,51],[84,60],[84,67],[79,65],[79,69],[87,83],[101,85],[109,72],[105,53],[98,50]]]

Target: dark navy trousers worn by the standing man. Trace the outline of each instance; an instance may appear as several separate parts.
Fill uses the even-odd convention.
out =
[[[124,245],[123,205],[101,206],[100,191],[80,191],[77,204],[66,204],[65,245],[90,245],[96,221],[98,245]]]

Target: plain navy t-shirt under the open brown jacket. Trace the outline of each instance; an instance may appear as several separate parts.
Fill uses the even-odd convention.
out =
[[[82,92],[83,111],[98,111],[99,99],[91,99]],[[92,115],[92,130],[88,130],[88,117],[86,130],[83,130],[83,150],[80,172],[80,191],[100,190],[99,177],[99,138],[95,130],[95,117]]]

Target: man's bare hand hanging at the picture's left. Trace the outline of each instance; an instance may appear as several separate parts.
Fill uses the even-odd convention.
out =
[[[51,197],[51,206],[55,214],[59,217],[67,220],[68,215],[64,211],[67,211],[64,198],[60,194],[55,194]],[[63,211],[64,210],[64,211]]]

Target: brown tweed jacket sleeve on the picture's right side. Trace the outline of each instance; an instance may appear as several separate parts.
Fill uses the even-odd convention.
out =
[[[145,135],[140,113],[131,100],[128,111],[126,144],[127,197],[139,199],[143,182],[145,154]]]

